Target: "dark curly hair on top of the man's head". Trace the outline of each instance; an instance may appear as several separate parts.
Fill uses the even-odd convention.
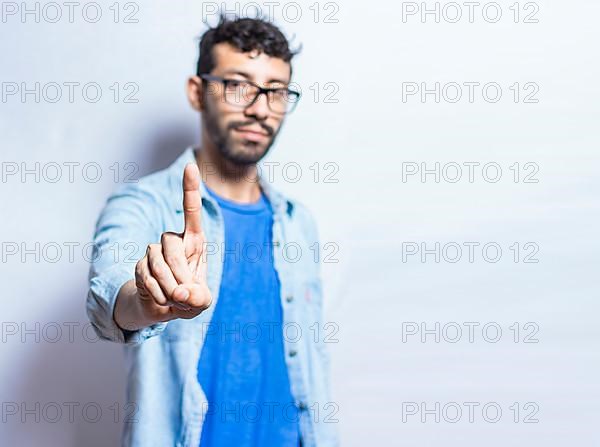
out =
[[[300,52],[292,51],[283,33],[272,23],[263,18],[240,18],[229,20],[221,14],[219,23],[214,28],[209,28],[200,39],[200,57],[196,67],[196,74],[210,73],[215,66],[213,47],[222,42],[227,42],[247,53],[258,50],[268,56],[283,59],[290,63]]]

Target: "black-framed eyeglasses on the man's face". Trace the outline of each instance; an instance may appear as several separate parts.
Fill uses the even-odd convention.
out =
[[[209,74],[200,75],[205,81],[223,85],[223,99],[227,104],[246,108],[256,102],[263,93],[267,96],[269,109],[276,114],[291,113],[300,100],[300,93],[289,88],[263,88],[254,82],[238,79],[225,79]]]

